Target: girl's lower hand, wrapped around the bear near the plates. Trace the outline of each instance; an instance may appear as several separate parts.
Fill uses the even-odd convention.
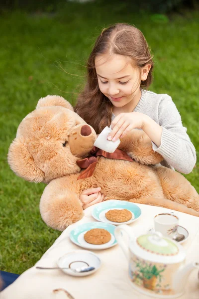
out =
[[[100,193],[100,189],[101,188],[99,187],[82,191],[82,193],[80,194],[80,200],[82,201],[82,207],[84,210],[103,200],[104,195]]]

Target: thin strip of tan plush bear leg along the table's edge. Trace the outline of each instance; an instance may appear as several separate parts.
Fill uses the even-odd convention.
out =
[[[153,206],[159,206],[159,207],[163,207],[170,210],[175,210],[175,211],[179,211],[182,213],[199,217],[199,212],[195,211],[194,209],[188,208],[187,206],[181,203],[171,201],[165,198],[158,198],[158,197],[155,198],[149,196],[149,197],[141,197],[141,198],[132,198],[129,201],[134,203],[142,203],[142,204],[148,204]]]

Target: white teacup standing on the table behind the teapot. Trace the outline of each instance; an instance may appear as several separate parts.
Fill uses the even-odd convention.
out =
[[[162,213],[154,217],[154,229],[163,236],[173,238],[177,234],[179,218],[173,213]]]

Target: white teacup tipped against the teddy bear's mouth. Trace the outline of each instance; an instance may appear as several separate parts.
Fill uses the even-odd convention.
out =
[[[120,140],[117,139],[114,142],[107,140],[107,137],[111,131],[112,130],[110,128],[105,127],[96,139],[94,146],[107,152],[114,152],[120,144]]]

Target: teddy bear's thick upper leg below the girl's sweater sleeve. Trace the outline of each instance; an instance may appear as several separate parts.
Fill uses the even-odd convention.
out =
[[[164,166],[156,167],[165,198],[199,211],[199,194],[179,172]]]

